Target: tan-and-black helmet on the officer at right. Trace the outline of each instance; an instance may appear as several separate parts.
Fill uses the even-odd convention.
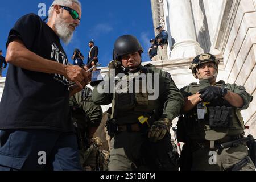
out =
[[[217,74],[218,74],[218,64],[220,63],[219,60],[216,59],[216,57],[210,53],[203,53],[201,55],[198,55],[196,56],[193,61],[192,61],[192,65],[189,69],[192,70],[192,73],[193,73],[193,76],[195,78],[198,78],[197,75],[196,75],[196,68],[200,65],[200,64],[203,64],[203,63],[209,63],[209,62],[212,62],[216,65],[216,71],[217,71]]]

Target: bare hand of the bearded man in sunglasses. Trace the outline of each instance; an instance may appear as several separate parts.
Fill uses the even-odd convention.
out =
[[[85,69],[82,69],[77,65],[69,65],[65,68],[64,77],[69,81],[75,82],[76,85],[82,89],[90,82],[88,82],[88,80],[90,80],[90,75]]]

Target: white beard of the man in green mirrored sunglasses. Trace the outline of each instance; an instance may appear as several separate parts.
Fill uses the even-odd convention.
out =
[[[73,37],[74,31],[69,28],[70,25],[72,23],[66,23],[62,18],[58,18],[54,24],[57,35],[65,44],[68,44]]]

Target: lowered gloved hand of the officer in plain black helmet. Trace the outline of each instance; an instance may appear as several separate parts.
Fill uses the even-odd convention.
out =
[[[148,132],[150,142],[158,142],[158,140],[162,140],[166,133],[170,132],[170,127],[171,121],[168,118],[162,118],[154,122]]]

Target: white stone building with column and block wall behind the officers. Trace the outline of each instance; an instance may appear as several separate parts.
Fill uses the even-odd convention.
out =
[[[168,60],[153,64],[170,72],[181,88],[197,82],[189,70],[193,57],[216,55],[221,60],[218,80],[243,85],[254,96],[242,116],[250,126],[246,134],[256,137],[256,0],[151,0],[151,6],[154,27],[161,24],[176,41],[172,51],[168,47]],[[4,81],[0,78],[0,98]]]

